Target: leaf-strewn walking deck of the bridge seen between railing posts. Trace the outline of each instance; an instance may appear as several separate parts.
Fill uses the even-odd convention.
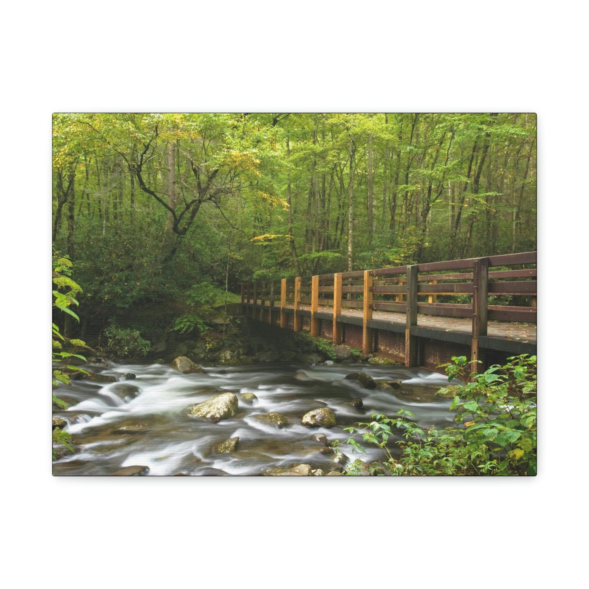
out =
[[[260,305],[256,305],[259,307]],[[264,303],[264,307],[269,307],[268,302]],[[274,307],[279,310],[280,307]],[[293,305],[287,305],[286,309],[293,310]],[[311,307],[309,305],[300,305],[299,309],[303,312],[310,313]],[[326,317],[330,316],[333,319],[333,310],[330,307],[319,307],[319,313]],[[358,317],[362,319],[362,310],[356,309],[342,309],[342,316]],[[372,319],[376,321],[383,321],[388,323],[399,324],[405,326],[405,313],[393,313],[385,311],[374,311]],[[457,332],[471,335],[472,321],[471,319],[462,319],[461,317],[439,317],[432,315],[418,315],[418,327],[427,327],[428,329],[435,329],[444,332]],[[508,340],[521,343],[530,343],[536,345],[537,343],[537,326],[534,323],[507,323],[501,321],[489,321],[487,327],[487,337],[492,337],[499,340]]]

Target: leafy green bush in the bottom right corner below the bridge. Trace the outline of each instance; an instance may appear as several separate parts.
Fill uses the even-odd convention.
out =
[[[446,366],[448,380],[465,379],[465,356]],[[471,373],[465,385],[452,387],[450,406],[455,428],[425,432],[401,409],[398,417],[372,415],[372,422],[345,428],[352,451],[365,449],[354,439],[382,448],[390,474],[399,475],[530,475],[537,469],[537,359],[514,356],[504,366],[491,366],[483,374]],[[463,380],[464,382],[464,380]],[[442,395],[448,389],[441,389]],[[396,460],[388,444],[394,438],[402,450]],[[349,474],[358,474],[350,469]]]

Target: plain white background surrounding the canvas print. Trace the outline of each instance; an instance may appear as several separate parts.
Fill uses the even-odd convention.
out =
[[[587,298],[587,15],[580,3],[551,6],[4,7],[7,587],[577,585],[587,527],[587,313],[578,309]],[[52,477],[54,111],[537,112],[538,476]]]

